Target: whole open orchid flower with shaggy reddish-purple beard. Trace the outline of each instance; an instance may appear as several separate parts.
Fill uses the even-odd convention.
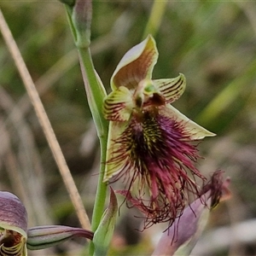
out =
[[[199,194],[195,177],[199,155],[193,141],[214,134],[173,108],[186,80],[152,79],[158,58],[150,35],[130,49],[111,78],[103,113],[110,121],[104,182],[121,180],[128,207],[145,214],[145,227],[172,224],[183,212],[188,193]],[[189,174],[190,173],[190,174]]]

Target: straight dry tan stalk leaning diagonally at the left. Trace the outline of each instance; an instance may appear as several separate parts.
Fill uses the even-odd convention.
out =
[[[26,68],[26,64],[23,61],[23,58],[20,54],[20,50],[17,44],[15,43],[15,39],[13,38],[9,30],[9,26],[3,17],[3,13],[1,9],[0,9],[0,30],[3,34],[3,38],[9,48],[9,51],[15,61],[15,65],[20,73],[20,77],[26,87],[26,91],[30,96],[30,100],[32,101],[32,105],[38,116],[38,121],[42,126],[46,140],[49,143],[49,148],[51,149],[52,154],[54,155],[55,162],[59,167],[59,171],[61,173],[63,182],[65,183],[68,194],[71,198],[71,201],[73,202],[73,206],[75,207],[75,210],[78,214],[80,224],[84,229],[90,230],[90,221],[85,212],[84,204],[79,195],[79,191],[73,181],[71,172],[67,167],[67,162],[61,152],[61,147],[57,142],[57,139],[55,137],[55,132],[53,131],[50,125],[47,114],[45,113],[44,105],[41,102],[40,97],[38,96],[38,91],[35,87],[35,84],[32,81],[32,77],[30,73]]]

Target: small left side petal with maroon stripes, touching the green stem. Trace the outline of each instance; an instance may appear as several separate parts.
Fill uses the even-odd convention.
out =
[[[103,114],[105,119],[125,121],[131,116],[132,95],[124,86],[113,90],[104,100]]]

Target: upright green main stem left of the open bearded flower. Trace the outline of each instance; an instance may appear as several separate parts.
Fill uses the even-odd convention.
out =
[[[84,35],[84,30],[79,29],[80,26],[74,23],[73,8],[66,5],[67,18],[71,31],[73,32],[74,42],[79,50],[79,61],[84,79],[84,87],[90,112],[94,119],[98,137],[101,146],[101,167],[96,190],[96,199],[91,220],[91,230],[94,232],[100,224],[102,214],[104,212],[105,200],[107,195],[107,183],[103,183],[103,175],[106,162],[106,151],[108,142],[108,121],[102,115],[103,99],[106,96],[106,91],[101,80],[97,77],[93,66],[93,61],[90,55],[90,38],[86,38],[89,34]],[[90,255],[94,253],[94,245],[90,243]]]

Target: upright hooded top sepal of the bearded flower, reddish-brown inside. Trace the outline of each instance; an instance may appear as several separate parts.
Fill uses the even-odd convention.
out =
[[[121,59],[110,80],[111,88],[120,86],[134,89],[143,79],[151,79],[158,50],[151,35],[140,44],[131,48]]]

